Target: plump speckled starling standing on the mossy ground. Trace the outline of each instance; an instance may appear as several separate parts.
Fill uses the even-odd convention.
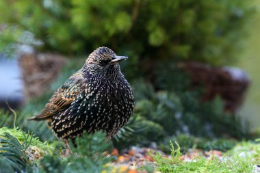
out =
[[[125,59],[104,46],[94,50],[42,113],[29,120],[47,120],[55,135],[65,140],[96,131],[106,132],[110,139],[133,114],[133,92],[118,64]]]

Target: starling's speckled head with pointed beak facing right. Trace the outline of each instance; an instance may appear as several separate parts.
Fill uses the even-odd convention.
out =
[[[96,69],[103,70],[108,67],[116,66],[118,62],[127,59],[125,56],[118,56],[111,49],[103,46],[94,50],[86,59],[86,66],[92,66]]]

